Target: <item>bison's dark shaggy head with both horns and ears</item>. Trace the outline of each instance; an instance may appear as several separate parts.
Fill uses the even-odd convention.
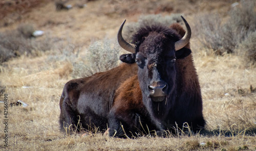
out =
[[[181,16],[182,17],[182,16]],[[123,62],[136,62],[138,80],[146,108],[157,118],[165,118],[176,97],[176,59],[187,57],[191,51],[188,44],[191,30],[186,25],[186,34],[181,37],[177,31],[164,26],[144,27],[133,36],[133,43],[122,38],[122,23],[118,32],[118,42],[126,51],[135,56],[122,58]]]

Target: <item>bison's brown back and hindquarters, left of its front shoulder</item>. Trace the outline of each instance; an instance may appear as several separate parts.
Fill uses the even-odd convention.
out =
[[[137,73],[136,64],[123,63],[106,72],[69,81],[60,98],[60,128],[107,128],[108,113],[120,83]],[[78,121],[80,119],[80,121]],[[78,128],[78,129],[76,129]]]

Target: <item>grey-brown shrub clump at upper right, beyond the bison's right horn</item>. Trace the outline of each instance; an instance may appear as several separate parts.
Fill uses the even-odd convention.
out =
[[[217,55],[237,53],[247,35],[256,30],[254,6],[252,0],[240,1],[240,5],[231,8],[226,22],[219,14],[200,16],[195,26],[198,39]]]

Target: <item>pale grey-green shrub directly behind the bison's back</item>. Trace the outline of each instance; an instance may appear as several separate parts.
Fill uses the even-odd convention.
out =
[[[88,48],[88,54],[73,62],[72,78],[88,77],[96,72],[110,70],[118,65],[120,47],[109,39],[95,41]]]

